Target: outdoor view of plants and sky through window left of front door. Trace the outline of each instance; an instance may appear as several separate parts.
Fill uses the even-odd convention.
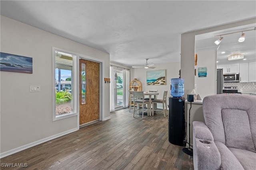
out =
[[[55,51],[55,114],[65,115],[73,112],[72,100],[73,56]]]

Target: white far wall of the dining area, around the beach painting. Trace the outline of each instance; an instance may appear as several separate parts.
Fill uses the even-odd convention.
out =
[[[156,68],[132,68],[131,69],[131,80],[137,78],[142,83],[142,91],[148,92],[148,90],[158,90],[158,99],[162,99],[164,91],[168,90],[167,97],[170,95],[170,80],[171,78],[179,78],[180,62],[166,63],[166,64],[155,64]],[[147,85],[146,84],[146,72],[149,70],[166,70],[166,85]],[[160,105],[159,105],[160,106]]]

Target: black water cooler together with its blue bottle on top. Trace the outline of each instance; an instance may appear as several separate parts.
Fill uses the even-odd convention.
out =
[[[185,98],[184,80],[171,79],[171,95],[169,98],[168,140],[174,145],[183,146],[185,139]]]

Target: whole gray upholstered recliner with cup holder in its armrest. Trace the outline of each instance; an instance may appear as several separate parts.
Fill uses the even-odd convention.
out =
[[[206,96],[203,113],[205,124],[193,122],[194,169],[256,169],[256,96]]]

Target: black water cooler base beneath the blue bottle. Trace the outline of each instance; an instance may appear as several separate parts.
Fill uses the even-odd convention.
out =
[[[169,98],[168,140],[178,146],[184,146],[185,139],[185,98]]]

